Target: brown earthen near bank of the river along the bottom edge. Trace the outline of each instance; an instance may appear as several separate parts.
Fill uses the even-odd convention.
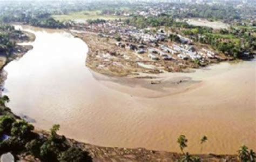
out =
[[[5,110],[2,109],[5,107],[1,105],[0,114],[2,117],[3,114],[5,116],[10,116],[16,118],[16,120],[21,120],[18,116],[13,114],[7,107]],[[41,140],[46,139],[50,136],[50,132],[35,130],[33,133],[36,133],[36,136],[41,137]],[[62,138],[58,136],[58,138]],[[39,142],[39,139],[38,139]],[[101,147],[91,144],[85,144],[78,142],[73,139],[65,138],[63,142],[65,145],[69,147],[80,149],[84,152],[88,152],[89,156],[93,161],[177,161],[183,156],[181,153],[174,152],[166,152],[166,151],[154,151],[154,150],[146,150],[144,148],[137,149],[128,149],[128,148],[120,148],[120,147]],[[11,143],[10,143],[11,144]],[[27,144],[28,145],[29,141]],[[38,158],[34,157],[29,150],[19,150],[18,152],[15,150],[16,144],[11,144],[11,147],[8,151],[11,152],[15,160],[24,160],[24,161],[41,161]],[[2,148],[2,146],[0,146]],[[17,147],[21,147],[17,145]],[[17,148],[16,147],[16,148]],[[28,147],[26,147],[28,148]],[[34,148],[36,149],[36,147]],[[34,150],[35,151],[35,150]],[[0,149],[0,152],[3,150]],[[217,154],[194,154],[193,156],[201,158],[203,161],[238,161],[238,157],[236,155],[217,155]]]

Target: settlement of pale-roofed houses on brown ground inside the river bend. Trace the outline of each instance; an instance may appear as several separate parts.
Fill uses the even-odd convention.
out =
[[[173,22],[173,26],[178,23],[183,22]],[[220,30],[226,29],[189,25],[137,28],[117,20],[77,23],[72,29],[71,33],[89,46],[86,65],[110,76],[187,72],[227,60],[253,58],[253,53],[248,51],[233,52],[238,51],[232,49],[233,44],[244,40],[235,35],[221,35]],[[223,45],[218,45],[216,50],[218,43]]]

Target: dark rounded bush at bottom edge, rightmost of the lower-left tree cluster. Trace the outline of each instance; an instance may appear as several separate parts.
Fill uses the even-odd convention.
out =
[[[67,151],[60,154],[58,161],[61,162],[84,162],[92,161],[92,158],[89,156],[88,152],[85,152],[81,149],[71,147]]]

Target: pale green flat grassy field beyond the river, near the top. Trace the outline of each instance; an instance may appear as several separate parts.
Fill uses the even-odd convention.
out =
[[[100,10],[93,11],[80,11],[80,12],[72,12],[68,15],[52,15],[53,18],[59,21],[78,21],[85,22],[87,19],[125,19],[128,17],[125,16],[115,16],[115,15],[101,15]]]

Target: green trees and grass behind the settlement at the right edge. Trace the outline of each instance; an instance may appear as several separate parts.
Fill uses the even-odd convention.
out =
[[[231,28],[213,31],[210,28],[194,27],[183,29],[182,32],[195,42],[211,45],[213,49],[234,58],[251,57],[251,53],[256,49],[256,38],[251,35],[250,30]],[[249,55],[245,56],[245,52]]]

